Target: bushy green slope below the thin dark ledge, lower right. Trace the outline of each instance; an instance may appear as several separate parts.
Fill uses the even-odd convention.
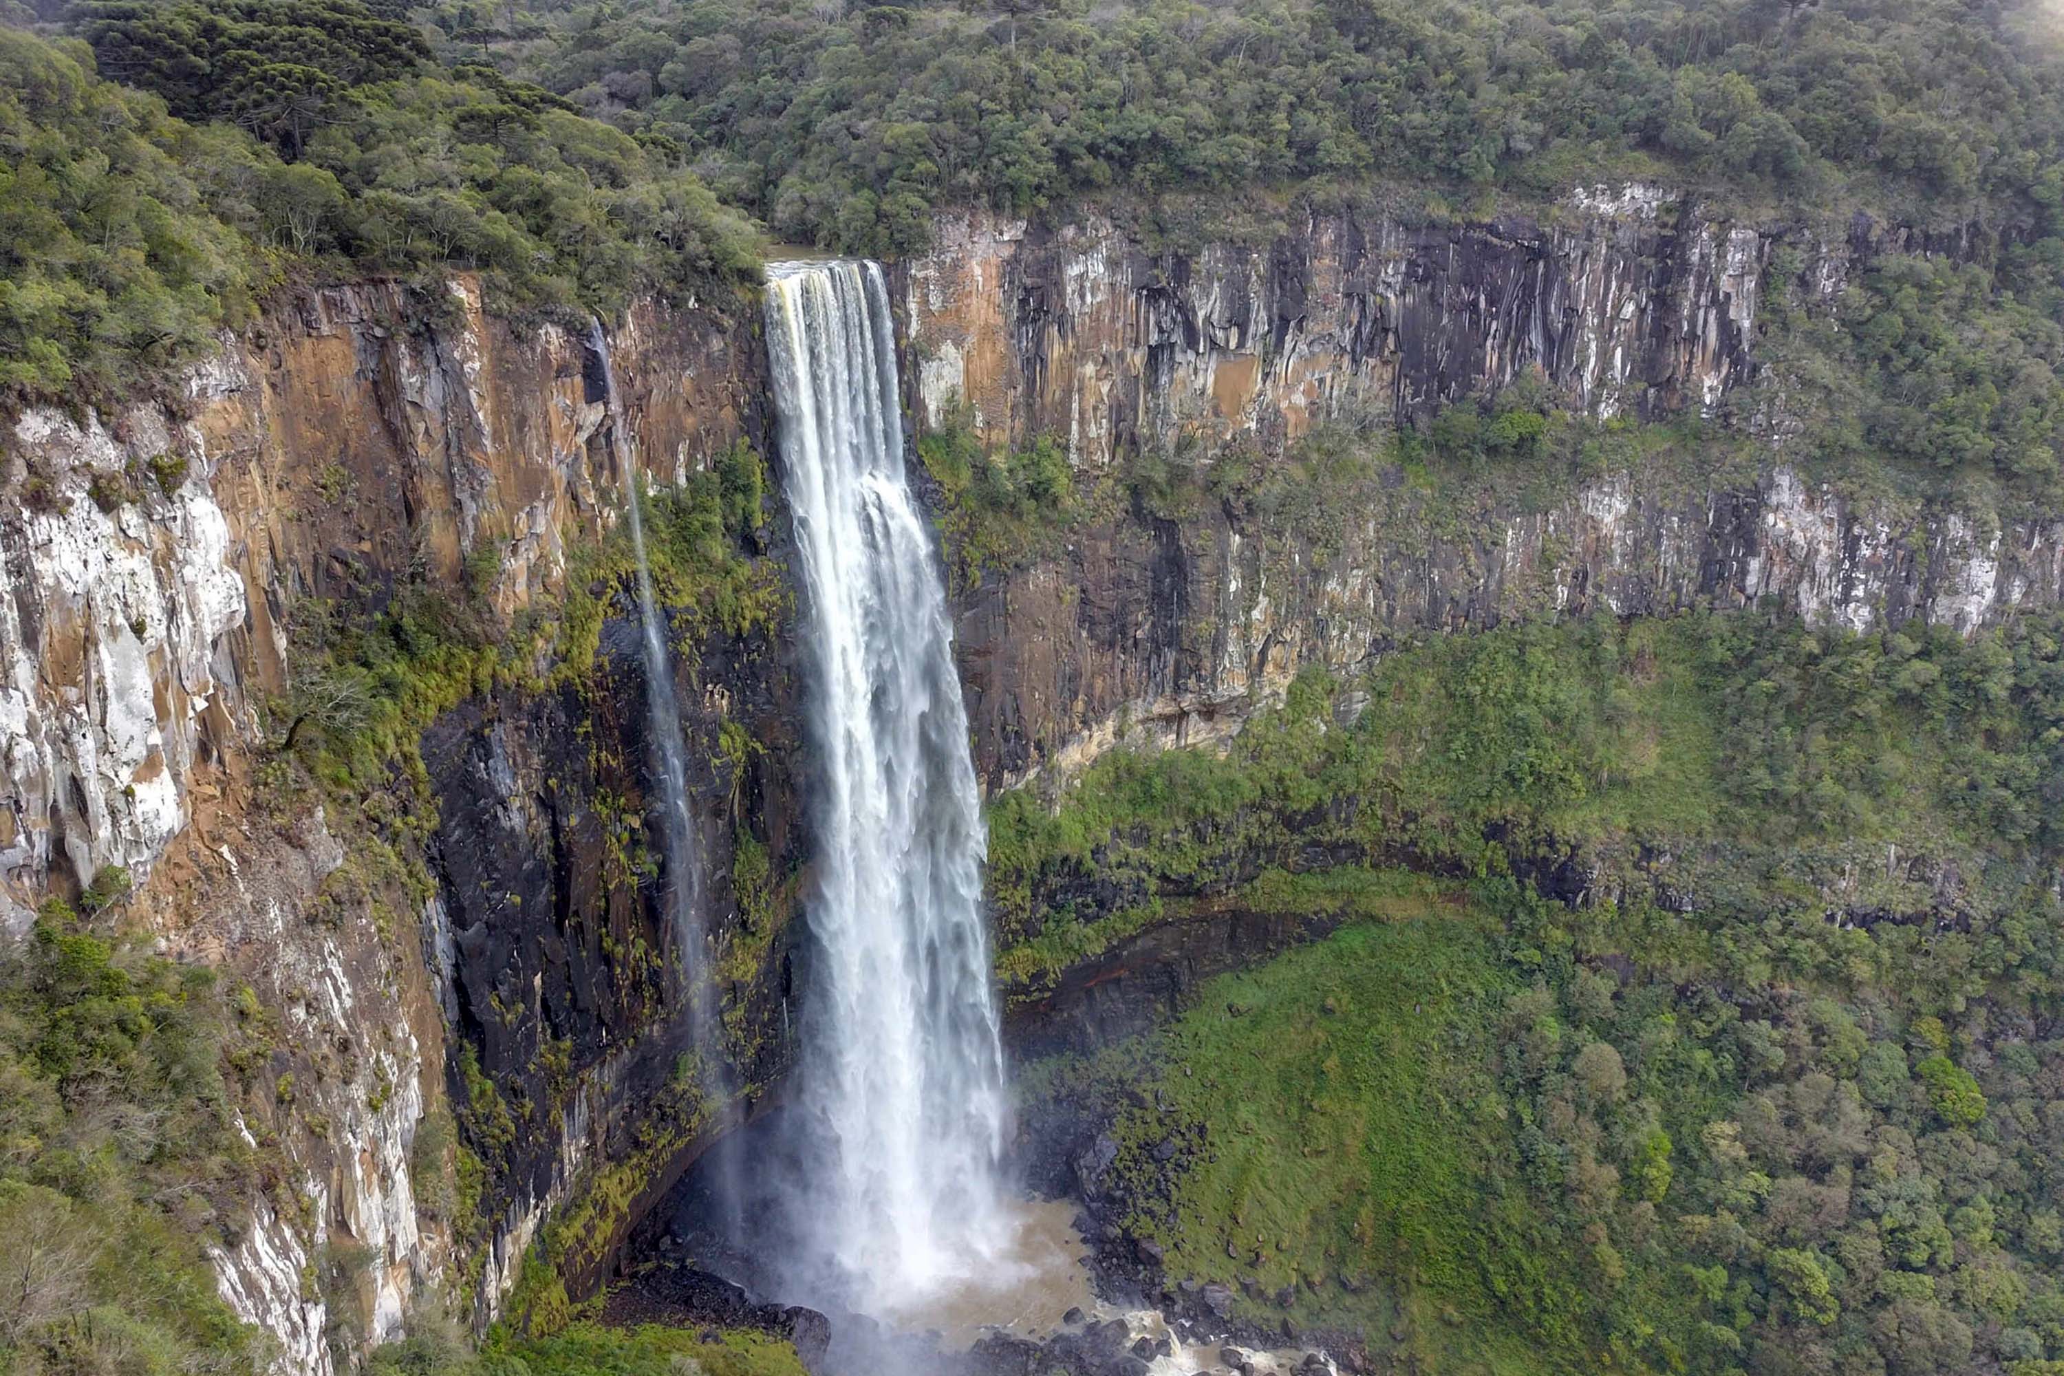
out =
[[[1924,941],[1484,881],[1024,1089],[1110,1124],[1102,1188],[1170,1279],[1414,1370],[2041,1376],[2056,930],[2047,893]]]

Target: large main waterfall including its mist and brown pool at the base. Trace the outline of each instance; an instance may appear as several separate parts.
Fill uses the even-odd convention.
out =
[[[700,1324],[751,1310],[801,1335],[809,1312],[784,1308],[801,1302],[821,1312],[809,1359],[828,1376],[1005,1370],[991,1362],[1028,1359],[1026,1341],[1082,1343],[1092,1329],[1112,1359],[1139,1339],[1170,1353],[1158,1312],[1092,1293],[1073,1205],[999,1182],[987,838],[941,565],[904,481],[881,268],[774,264],[766,338],[811,747],[801,1046],[784,1102],[722,1135],[677,1186],[623,1314],[650,1302]],[[1125,1359],[1166,1376],[1216,1353],[1214,1339],[1174,1343],[1154,1368]]]

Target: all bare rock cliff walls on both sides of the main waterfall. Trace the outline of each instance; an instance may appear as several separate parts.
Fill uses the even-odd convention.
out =
[[[1224,739],[1298,666],[1360,666],[1414,629],[1775,596],[1812,621],[1969,631],[2060,598],[2064,532],[1841,497],[1787,462],[1781,392],[1750,386],[1779,239],[1802,250],[1779,287],[1823,309],[1874,254],[1981,245],[1705,223],[1641,188],[1558,215],[1321,217],[1199,254],[1150,252],[1106,221],[962,217],[900,264],[912,421],[966,406],[991,444],[1063,435],[1092,479],[1179,446],[1251,441],[1267,464],[1327,425],[1424,415],[1536,365],[1600,415],[1711,408],[1754,435],[1746,466],[1608,470],[1461,510],[1399,485],[1393,505],[1340,512],[1337,538],[1210,503],[1102,512],[960,590],[985,782],[1067,772],[1117,741]],[[31,411],[12,429],[8,924],[122,866],[128,922],[270,1011],[272,1054],[239,1108],[270,1184],[219,1265],[295,1370],[330,1370],[338,1335],[341,1351],[392,1337],[440,1291],[485,1320],[592,1289],[793,1056],[791,918],[811,856],[793,600],[675,627],[700,922],[724,951],[741,1073],[737,1104],[706,1104],[706,1048],[665,978],[677,937],[636,840],[660,807],[636,609],[582,559],[615,526],[627,466],[667,487],[741,439],[774,454],[764,342],[749,305],[656,301],[609,340],[630,431],[615,437],[596,351],[489,318],[469,281],[305,291],[225,340],[184,396]],[[795,553],[772,499],[737,557],[786,586]],[[499,627],[601,598],[594,673],[440,683],[405,751],[421,774],[392,761],[386,788],[289,778],[312,609],[400,615],[425,592]],[[452,1110],[477,1186],[454,1184],[456,1145],[425,1133]],[[471,1205],[464,1188],[481,1190]],[[549,1267],[526,1283],[541,1240]],[[374,1260],[310,1285],[343,1242]]]

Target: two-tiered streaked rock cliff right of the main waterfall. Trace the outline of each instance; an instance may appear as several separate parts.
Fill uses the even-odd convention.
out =
[[[1796,276],[1771,283],[1777,245]],[[1063,437],[1094,479],[1129,452],[1210,470],[1315,427],[1385,429],[1534,373],[1598,417],[1754,415],[1752,470],[1492,474],[1319,493],[1294,522],[1236,501],[1133,503],[962,598],[985,778],[1075,767],[1121,736],[1205,743],[1307,662],[1544,613],[1653,615],[1777,598],[1814,623],[1971,631],[2064,588],[2064,528],[1853,501],[1785,460],[1756,375],[1767,291],[1827,309],[1907,245],[1701,219],[1651,188],[1558,223],[1408,227],[1315,217],[1259,248],[1150,254],[1108,221],[947,221],[906,264],[912,411],[993,446]],[[1263,458],[1263,462],[1269,462]]]

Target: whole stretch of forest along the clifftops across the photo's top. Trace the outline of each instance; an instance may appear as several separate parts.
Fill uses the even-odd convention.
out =
[[[502,307],[568,316],[735,281],[747,217],[894,254],[956,204],[1391,184],[1478,215],[1655,177],[2041,245],[2064,204],[2035,0],[122,0],[41,21],[85,45],[0,35],[17,404],[130,390],[295,274],[456,264]],[[2064,250],[2027,252],[2058,276]]]

